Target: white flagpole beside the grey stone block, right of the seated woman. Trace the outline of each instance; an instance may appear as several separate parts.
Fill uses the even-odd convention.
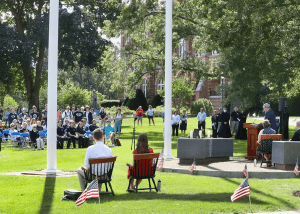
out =
[[[172,0],[166,0],[165,28],[165,159],[172,157],[171,116],[172,116]]]

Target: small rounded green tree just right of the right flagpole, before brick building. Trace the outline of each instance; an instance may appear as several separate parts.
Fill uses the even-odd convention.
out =
[[[181,107],[186,107],[188,100],[194,95],[195,82],[189,78],[178,75],[173,77],[172,83],[172,102],[175,109],[180,113]],[[159,94],[164,96],[165,90],[161,90]]]

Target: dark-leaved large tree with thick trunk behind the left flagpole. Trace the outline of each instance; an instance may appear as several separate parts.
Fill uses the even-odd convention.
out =
[[[109,42],[98,33],[104,20],[113,20],[118,15],[119,1],[100,2],[86,0],[66,1],[72,12],[64,7],[59,14],[59,67],[96,67]],[[20,76],[24,83],[29,106],[39,108],[39,90],[47,79],[43,69],[47,57],[49,28],[49,2],[45,0],[2,0],[0,9],[7,15],[0,24],[0,80],[11,81]],[[16,68],[13,72],[12,68]],[[7,72],[10,71],[10,72]],[[21,72],[20,72],[21,71]]]

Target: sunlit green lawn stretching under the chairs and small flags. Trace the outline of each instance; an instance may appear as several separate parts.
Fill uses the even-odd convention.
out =
[[[210,120],[210,118],[208,118]],[[156,126],[137,127],[139,133],[147,133],[154,152],[163,148],[161,118],[155,118]],[[252,122],[250,119],[247,122]],[[207,125],[210,121],[207,121]],[[116,195],[101,196],[102,213],[244,213],[277,210],[299,210],[299,198],[292,196],[300,189],[298,179],[259,180],[250,179],[252,210],[249,198],[234,203],[230,196],[242,179],[213,178],[175,173],[157,172],[162,181],[159,193],[127,193],[127,162],[132,162],[131,137],[133,119],[123,121],[121,147],[112,148],[118,156],[113,173],[112,186]],[[197,127],[196,118],[188,121],[188,133]],[[210,128],[210,127],[207,127]],[[292,128],[292,127],[291,127]],[[295,129],[295,127],[293,127]],[[291,130],[291,133],[293,130]],[[86,149],[58,150],[57,167],[63,171],[76,171],[83,164]],[[176,157],[176,138],[172,141],[172,155]],[[234,142],[234,156],[246,155],[246,141]],[[0,172],[46,169],[47,151],[12,150],[0,152]],[[146,182],[142,182],[142,186]],[[80,207],[73,201],[60,201],[65,189],[79,189],[77,177],[44,178],[25,176],[0,176],[0,213],[99,213],[98,199],[90,199]]]

